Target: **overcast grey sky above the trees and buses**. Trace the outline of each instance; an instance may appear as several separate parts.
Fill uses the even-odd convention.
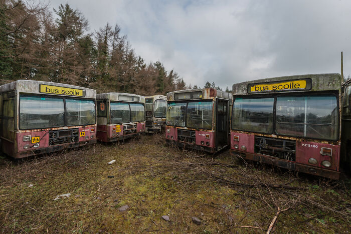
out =
[[[146,63],[161,61],[189,85],[276,76],[351,74],[351,1],[51,0],[68,3],[90,31],[118,24]]]

